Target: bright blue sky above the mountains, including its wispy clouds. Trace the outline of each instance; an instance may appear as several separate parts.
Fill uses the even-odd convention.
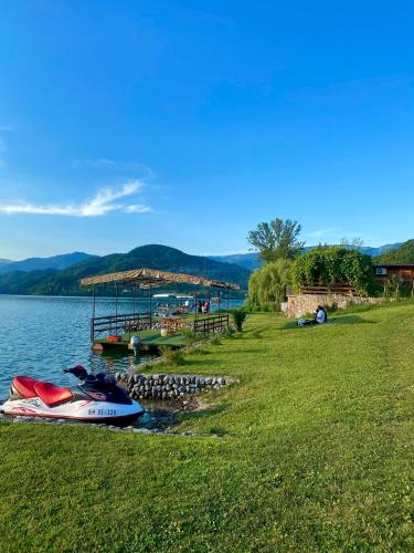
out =
[[[13,0],[0,258],[414,237],[411,1]]]

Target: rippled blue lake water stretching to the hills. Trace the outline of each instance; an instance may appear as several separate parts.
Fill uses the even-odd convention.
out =
[[[242,304],[242,301],[230,302],[231,307]],[[137,305],[139,311],[147,311],[148,300],[140,299]],[[114,312],[114,299],[97,300],[96,316]],[[131,300],[120,300],[118,312],[132,312]],[[0,399],[7,397],[11,378],[19,374],[73,385],[75,378],[62,373],[63,368],[84,365],[89,372],[114,373],[148,361],[132,355],[93,353],[91,316],[89,298],[0,295]]]

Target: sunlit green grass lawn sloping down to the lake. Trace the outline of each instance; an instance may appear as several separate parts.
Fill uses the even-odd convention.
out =
[[[0,425],[0,551],[413,550],[414,306],[272,314],[191,373],[200,437]]]

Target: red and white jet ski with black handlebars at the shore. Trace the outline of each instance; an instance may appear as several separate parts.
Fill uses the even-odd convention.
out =
[[[126,426],[144,415],[145,409],[117,386],[105,373],[91,375],[77,365],[64,369],[81,380],[67,388],[15,376],[10,385],[10,397],[0,405],[0,413],[11,417],[44,417],[104,422]]]

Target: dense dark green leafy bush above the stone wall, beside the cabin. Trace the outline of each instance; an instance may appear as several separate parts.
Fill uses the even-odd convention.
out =
[[[375,292],[372,259],[357,250],[320,247],[297,258],[293,263],[293,283],[300,285],[350,284],[361,295]]]

